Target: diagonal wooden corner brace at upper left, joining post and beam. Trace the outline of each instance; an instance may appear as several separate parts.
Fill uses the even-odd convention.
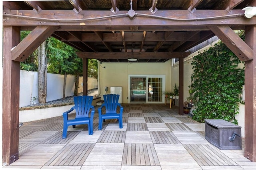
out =
[[[26,38],[12,49],[12,60],[24,61],[36,50],[58,27],[38,26]]]

